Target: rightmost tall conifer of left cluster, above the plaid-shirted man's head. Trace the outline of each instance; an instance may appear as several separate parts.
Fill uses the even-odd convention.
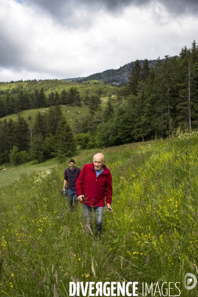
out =
[[[56,131],[56,153],[61,160],[71,156],[76,150],[76,142],[71,127],[63,118]]]

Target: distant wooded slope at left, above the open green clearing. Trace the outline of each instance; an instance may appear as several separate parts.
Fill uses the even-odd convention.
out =
[[[109,89],[117,89],[116,87],[108,86],[103,83],[95,84],[95,82],[86,82],[69,86],[67,89],[58,90],[61,88],[62,82],[52,80],[37,82],[28,81],[26,85],[24,82],[10,82],[0,83],[0,118],[19,113],[23,110],[45,108],[54,105],[77,105],[81,106],[82,101],[90,106],[90,109],[98,108],[100,98],[105,97]],[[57,87],[54,91],[46,90]],[[14,84],[14,88],[11,86]],[[52,84],[52,86],[51,86]],[[58,85],[59,84],[59,85]],[[69,83],[68,83],[69,84]],[[2,86],[1,86],[2,85]],[[38,89],[39,86],[44,86]],[[28,90],[33,90],[29,92]]]

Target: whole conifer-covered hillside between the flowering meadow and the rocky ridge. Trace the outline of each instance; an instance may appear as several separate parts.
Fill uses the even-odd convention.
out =
[[[102,110],[101,98],[106,98]],[[65,106],[89,114],[70,127]],[[41,112],[45,108],[45,112]],[[33,121],[20,115],[38,109]],[[6,117],[17,114],[17,120]],[[101,81],[58,80],[0,83],[0,164],[41,162],[70,156],[79,148],[105,148],[170,137],[198,128],[198,45],[179,56],[158,58],[151,68],[136,60],[123,86]]]

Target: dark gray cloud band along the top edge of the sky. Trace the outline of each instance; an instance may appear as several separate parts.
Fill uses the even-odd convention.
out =
[[[105,10],[109,13],[120,14],[123,8],[131,4],[140,7],[154,3],[152,0],[24,0],[24,2],[27,5],[36,6],[38,11],[49,13],[57,22],[74,27],[83,25],[84,11]],[[198,13],[198,0],[157,0],[157,2],[163,4],[169,13],[175,15]],[[81,16],[77,16],[76,13],[79,9],[82,12]]]

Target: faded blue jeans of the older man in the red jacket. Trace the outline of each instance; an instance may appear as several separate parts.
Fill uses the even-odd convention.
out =
[[[92,207],[86,204],[82,204],[83,209],[83,216],[86,220],[86,225],[88,229],[92,232],[92,209],[95,212],[95,222],[96,222],[96,229],[95,235],[101,234],[102,222],[103,222],[103,209],[104,206],[101,207]]]

